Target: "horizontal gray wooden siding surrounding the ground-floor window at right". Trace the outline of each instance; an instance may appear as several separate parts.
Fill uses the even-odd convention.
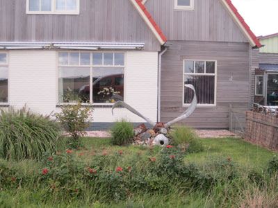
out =
[[[217,60],[217,107],[197,107],[184,122],[194,128],[228,128],[229,104],[247,110],[250,103],[250,44],[169,41],[162,58],[161,121],[171,121],[182,107],[183,60]],[[233,76],[233,81],[229,78]]]

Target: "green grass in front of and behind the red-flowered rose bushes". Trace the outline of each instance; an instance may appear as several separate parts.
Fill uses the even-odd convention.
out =
[[[188,190],[177,189],[179,184],[170,187],[167,195],[159,193],[138,193],[129,196],[124,201],[106,201],[99,202],[94,200],[91,196],[92,191],[84,190],[79,198],[73,198],[71,201],[57,200],[58,196],[51,196],[46,198],[47,189],[49,187],[41,187],[38,191],[31,191],[30,189],[19,187],[18,189],[10,189],[0,191],[0,207],[239,207],[236,203],[242,200],[240,197],[245,196],[245,189],[252,192],[255,187],[253,184],[246,182],[246,171],[255,168],[261,171],[267,165],[268,161],[272,159],[275,153],[254,146],[240,139],[225,138],[225,139],[198,139],[204,145],[204,152],[188,154],[185,158],[186,162],[195,162],[202,166],[206,164],[211,157],[222,155],[230,157],[231,160],[238,163],[240,166],[240,173],[245,175],[242,180],[237,180],[234,184],[220,184],[216,185],[208,193],[202,190]],[[103,154],[108,156],[119,154],[122,151],[123,164],[130,157],[137,157],[135,153],[141,153],[141,158],[149,157],[149,148],[145,146],[113,146],[111,138],[83,138],[85,148],[81,150],[73,150],[74,157],[84,160],[85,162],[92,162],[95,159],[92,153]],[[161,151],[160,147],[154,147],[152,155],[156,155]],[[79,157],[83,154],[82,157]],[[156,157],[156,156],[154,156]],[[1,162],[1,159],[0,159]],[[2,161],[5,162],[5,161]],[[19,166],[19,169],[24,173],[31,173],[31,169],[41,168],[34,160],[25,160],[23,162],[10,162],[9,166]],[[1,177],[1,174],[0,174]],[[246,183],[245,183],[246,182]],[[35,184],[35,182],[32,182]],[[32,186],[32,183],[30,186]],[[41,186],[41,185],[39,185]],[[277,186],[278,187],[278,186]],[[1,184],[0,184],[1,188]],[[272,192],[273,191],[273,194]],[[276,191],[276,192],[275,192]],[[259,192],[263,194],[262,192]],[[275,195],[277,188],[271,189],[265,194]],[[240,196],[240,197],[239,197]],[[229,198],[229,199],[227,199]]]

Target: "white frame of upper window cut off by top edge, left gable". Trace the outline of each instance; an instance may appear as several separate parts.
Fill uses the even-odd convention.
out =
[[[28,15],[79,15],[80,14],[80,0],[76,0],[76,10],[57,10],[56,0],[51,0],[51,11],[41,11],[41,0],[40,0],[40,11],[30,11],[29,1],[26,0],[26,14]]]

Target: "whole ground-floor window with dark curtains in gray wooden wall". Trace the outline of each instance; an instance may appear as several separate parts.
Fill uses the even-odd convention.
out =
[[[183,83],[195,87],[197,104],[216,105],[216,67],[217,62],[211,60],[184,60]],[[193,101],[193,91],[183,87],[183,105]]]

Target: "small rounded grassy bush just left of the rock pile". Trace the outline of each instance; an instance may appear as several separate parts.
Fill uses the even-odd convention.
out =
[[[133,125],[122,119],[117,121],[112,128],[112,144],[124,145],[131,143],[133,139]]]

